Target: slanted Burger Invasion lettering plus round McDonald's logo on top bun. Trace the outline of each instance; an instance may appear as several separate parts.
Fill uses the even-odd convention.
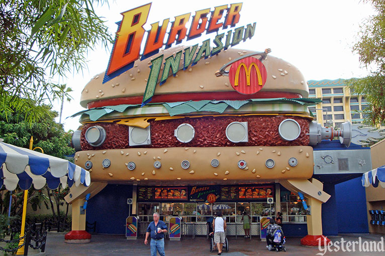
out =
[[[195,15],[192,16],[191,13],[175,16],[174,21],[170,22],[170,19],[165,19],[161,25],[159,25],[159,22],[153,23],[151,29],[146,31],[143,26],[147,23],[150,8],[151,3],[122,13],[123,19],[118,23],[119,28],[103,83],[133,68],[136,60],[143,61],[159,53],[160,49],[169,48],[172,44],[179,44],[183,40],[201,37],[204,33],[216,32],[217,35],[212,41],[210,39],[204,40],[200,47],[196,44],[165,59],[163,54],[152,59],[142,105],[151,100],[158,82],[160,85],[166,82],[170,70],[173,75],[176,75],[182,60],[182,69],[185,70],[189,66],[194,66],[203,58],[207,59],[210,56],[219,54],[222,50],[239,44],[241,41],[251,39],[255,32],[256,23],[235,28],[240,19],[242,3],[218,6],[214,10],[211,8],[203,9],[196,11]],[[226,30],[229,27],[234,29]],[[221,30],[226,31],[220,33]],[[141,49],[144,39],[146,43]],[[163,70],[161,69],[162,64]],[[244,69],[244,72],[242,69],[241,81],[233,79],[236,80],[234,84],[232,83],[233,87],[243,93],[245,89],[239,85],[243,85],[243,81],[245,81],[247,86],[250,81],[255,79],[259,87],[263,86],[266,76],[263,78],[263,75],[260,75],[262,69],[260,64],[262,63],[252,60],[248,64],[243,63],[243,66],[241,64],[239,63],[239,69]],[[250,68],[253,71],[256,70],[257,73],[255,71],[251,72]],[[251,91],[258,91],[260,89],[258,86],[253,86]],[[246,91],[249,89],[246,87]]]

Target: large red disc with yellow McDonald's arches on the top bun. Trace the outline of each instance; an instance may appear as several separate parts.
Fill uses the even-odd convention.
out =
[[[254,94],[266,83],[267,72],[262,62],[247,57],[234,62],[229,71],[231,86],[242,94]]]

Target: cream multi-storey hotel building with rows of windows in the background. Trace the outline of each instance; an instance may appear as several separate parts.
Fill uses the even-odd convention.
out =
[[[322,103],[309,107],[317,122],[324,126],[337,126],[349,120],[351,123],[363,121],[362,109],[367,107],[364,96],[349,89],[344,79],[309,80],[309,98],[320,98]]]

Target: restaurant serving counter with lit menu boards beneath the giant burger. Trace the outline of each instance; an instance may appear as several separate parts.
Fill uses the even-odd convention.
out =
[[[159,212],[166,223],[172,216],[181,218],[182,235],[207,235],[207,222],[221,213],[229,224],[228,235],[244,235],[242,215],[251,219],[251,235],[259,235],[261,216],[276,215],[273,184],[238,186],[164,186],[138,187],[137,215],[142,222],[140,233]]]

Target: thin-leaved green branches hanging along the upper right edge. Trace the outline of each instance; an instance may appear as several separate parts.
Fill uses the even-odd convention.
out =
[[[385,2],[383,0],[365,0],[371,3],[376,15],[368,17],[363,25],[353,52],[359,54],[359,60],[366,67],[375,66],[371,74],[361,79],[349,79],[346,84],[354,92],[365,95],[368,107],[363,109],[364,122],[371,125],[385,120]]]

